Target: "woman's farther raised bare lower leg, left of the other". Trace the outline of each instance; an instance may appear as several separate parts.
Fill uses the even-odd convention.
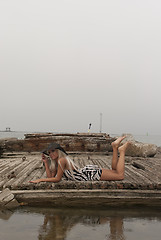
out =
[[[114,142],[112,142],[113,155],[112,155],[111,167],[113,170],[116,170],[116,166],[117,166],[117,162],[118,162],[118,147],[124,138],[126,138],[126,136],[119,137]]]

